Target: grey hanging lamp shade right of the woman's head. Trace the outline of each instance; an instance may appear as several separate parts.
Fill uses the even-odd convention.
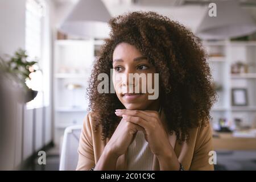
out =
[[[206,12],[196,35],[202,39],[228,39],[244,36],[256,31],[251,16],[239,6],[238,1],[214,1],[217,16]]]

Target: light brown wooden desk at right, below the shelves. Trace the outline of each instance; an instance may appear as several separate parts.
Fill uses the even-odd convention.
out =
[[[256,150],[256,138],[233,137],[232,133],[216,133],[213,149],[216,150]]]

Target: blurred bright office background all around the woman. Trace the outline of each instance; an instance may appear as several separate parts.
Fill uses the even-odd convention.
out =
[[[211,110],[215,169],[256,170],[254,0],[0,0],[0,169],[58,170],[69,146],[74,154],[61,160],[75,165],[79,133],[63,135],[69,126],[79,131],[86,115],[106,22],[138,10],[177,20],[202,40],[218,93]],[[46,165],[38,164],[39,151]]]

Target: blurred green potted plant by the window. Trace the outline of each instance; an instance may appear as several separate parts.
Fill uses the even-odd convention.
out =
[[[0,68],[9,75],[12,84],[23,90],[24,102],[33,100],[38,91],[28,88],[26,81],[31,80],[32,72],[38,71],[34,68],[38,61],[28,60],[28,55],[23,49],[18,49],[14,56],[6,55],[6,57],[7,60],[0,57]]]

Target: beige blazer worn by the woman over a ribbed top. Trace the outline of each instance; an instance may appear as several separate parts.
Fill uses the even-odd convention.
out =
[[[166,122],[166,117],[162,111],[160,114],[161,121]],[[163,119],[163,120],[162,120]],[[92,117],[92,113],[88,113],[84,119],[82,133],[79,143],[79,161],[77,164],[77,170],[89,170],[94,167],[100,159],[106,143],[109,138],[101,140],[101,126],[97,131],[93,131],[95,121]],[[176,135],[169,135],[169,142],[174,148],[175,154],[179,159],[179,162],[183,164],[185,170],[213,170],[213,164],[209,164],[208,155],[212,148],[212,129],[208,126],[200,126],[193,128],[189,132],[190,140],[188,143],[176,142]],[[117,160],[117,170],[127,170],[127,152],[121,155]],[[159,170],[159,162],[154,155],[153,170]]]

